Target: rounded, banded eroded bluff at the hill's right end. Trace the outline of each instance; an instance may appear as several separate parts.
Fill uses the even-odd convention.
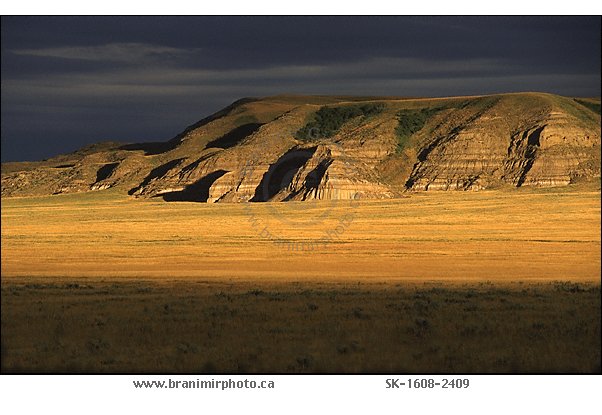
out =
[[[420,133],[409,189],[559,186],[599,177],[600,116],[578,103],[513,94],[482,98],[465,109],[471,107],[468,119],[448,111]]]

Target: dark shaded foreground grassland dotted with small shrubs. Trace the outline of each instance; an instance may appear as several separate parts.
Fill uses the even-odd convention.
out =
[[[2,282],[3,372],[600,372],[600,285]]]

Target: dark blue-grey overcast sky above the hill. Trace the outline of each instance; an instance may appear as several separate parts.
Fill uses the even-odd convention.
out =
[[[2,161],[168,140],[244,96],[600,96],[599,17],[2,17]]]

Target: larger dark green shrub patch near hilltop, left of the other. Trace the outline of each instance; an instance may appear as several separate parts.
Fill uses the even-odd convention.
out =
[[[303,128],[297,131],[295,138],[313,141],[335,135],[347,121],[355,117],[371,117],[379,114],[384,104],[345,105],[338,107],[321,107]]]

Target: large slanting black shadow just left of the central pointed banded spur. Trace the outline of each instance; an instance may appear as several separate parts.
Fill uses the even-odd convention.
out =
[[[292,149],[283,154],[261,178],[259,186],[251,202],[266,202],[282,189],[286,189],[292,182],[295,174],[314,155],[317,147],[305,149]]]

